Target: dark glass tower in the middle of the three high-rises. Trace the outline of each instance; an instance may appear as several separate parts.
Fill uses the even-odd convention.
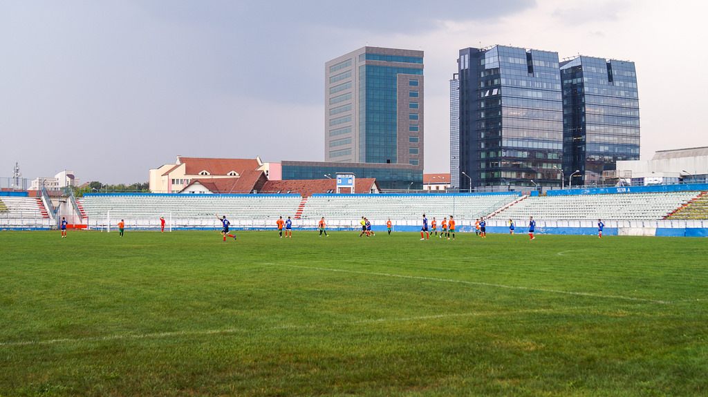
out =
[[[457,63],[459,188],[560,186],[558,54],[496,45],[461,49]]]

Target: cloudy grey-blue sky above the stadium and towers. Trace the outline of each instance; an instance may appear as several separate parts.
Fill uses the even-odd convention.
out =
[[[708,146],[702,1],[0,0],[0,177],[146,182],[177,155],[324,160],[324,63],[425,52],[425,172],[450,170],[465,47],[636,63],[641,158]]]

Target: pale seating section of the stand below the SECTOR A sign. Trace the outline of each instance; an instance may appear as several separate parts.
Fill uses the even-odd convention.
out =
[[[661,220],[697,191],[536,196],[499,211],[495,218],[538,220]]]

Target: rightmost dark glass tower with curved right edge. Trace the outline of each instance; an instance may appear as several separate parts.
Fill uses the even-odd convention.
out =
[[[560,69],[566,181],[596,184],[617,160],[639,160],[634,62],[581,56]]]

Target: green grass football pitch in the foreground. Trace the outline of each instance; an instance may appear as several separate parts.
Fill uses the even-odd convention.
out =
[[[699,396],[708,244],[0,232],[0,396]]]

